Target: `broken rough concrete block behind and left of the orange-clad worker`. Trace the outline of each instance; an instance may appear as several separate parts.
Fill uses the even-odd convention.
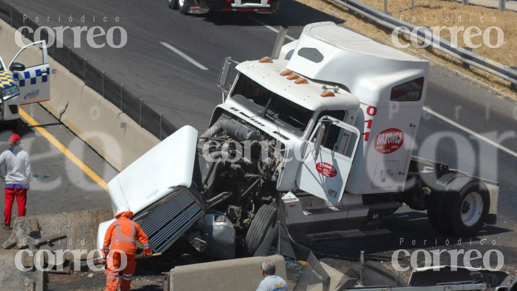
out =
[[[97,249],[97,227],[99,223],[113,218],[112,209],[87,210],[77,212],[49,213],[17,217],[11,236],[3,248],[39,249],[46,244],[45,239],[66,235],[66,239],[55,241],[52,246],[59,250],[84,250],[86,254]],[[73,254],[67,252],[66,259]]]

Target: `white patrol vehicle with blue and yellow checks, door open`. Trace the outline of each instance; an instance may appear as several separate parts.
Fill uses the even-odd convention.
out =
[[[49,99],[50,66],[44,40],[21,48],[7,66],[0,56],[0,122],[18,120],[19,106]]]

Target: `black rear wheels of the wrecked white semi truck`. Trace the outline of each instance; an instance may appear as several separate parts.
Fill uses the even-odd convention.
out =
[[[484,183],[448,173],[438,179],[436,186],[429,198],[431,226],[447,235],[475,235],[483,227],[490,209],[490,195]]]

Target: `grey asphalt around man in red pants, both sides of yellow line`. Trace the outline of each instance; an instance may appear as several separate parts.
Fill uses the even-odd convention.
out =
[[[104,181],[115,177],[117,171],[114,168],[48,111],[36,104],[24,106],[24,110],[38,122],[37,127],[47,130]],[[9,148],[8,139],[13,132],[21,135],[21,146],[31,159],[33,177],[27,193],[26,215],[110,207],[110,199],[102,187],[42,136],[35,126],[23,120],[18,122],[16,128],[0,124],[0,152]],[[3,189],[4,181],[0,180],[0,190],[3,192]],[[3,213],[4,199],[0,199],[0,209]],[[16,209],[15,203],[13,219],[17,216]],[[1,220],[3,226],[3,215]],[[9,234],[10,231],[0,229],[0,241],[5,241]]]

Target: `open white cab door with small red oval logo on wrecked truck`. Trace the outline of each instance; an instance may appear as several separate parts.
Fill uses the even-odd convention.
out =
[[[341,201],[359,136],[354,126],[329,116],[321,118],[302,155],[298,188],[332,203]]]

